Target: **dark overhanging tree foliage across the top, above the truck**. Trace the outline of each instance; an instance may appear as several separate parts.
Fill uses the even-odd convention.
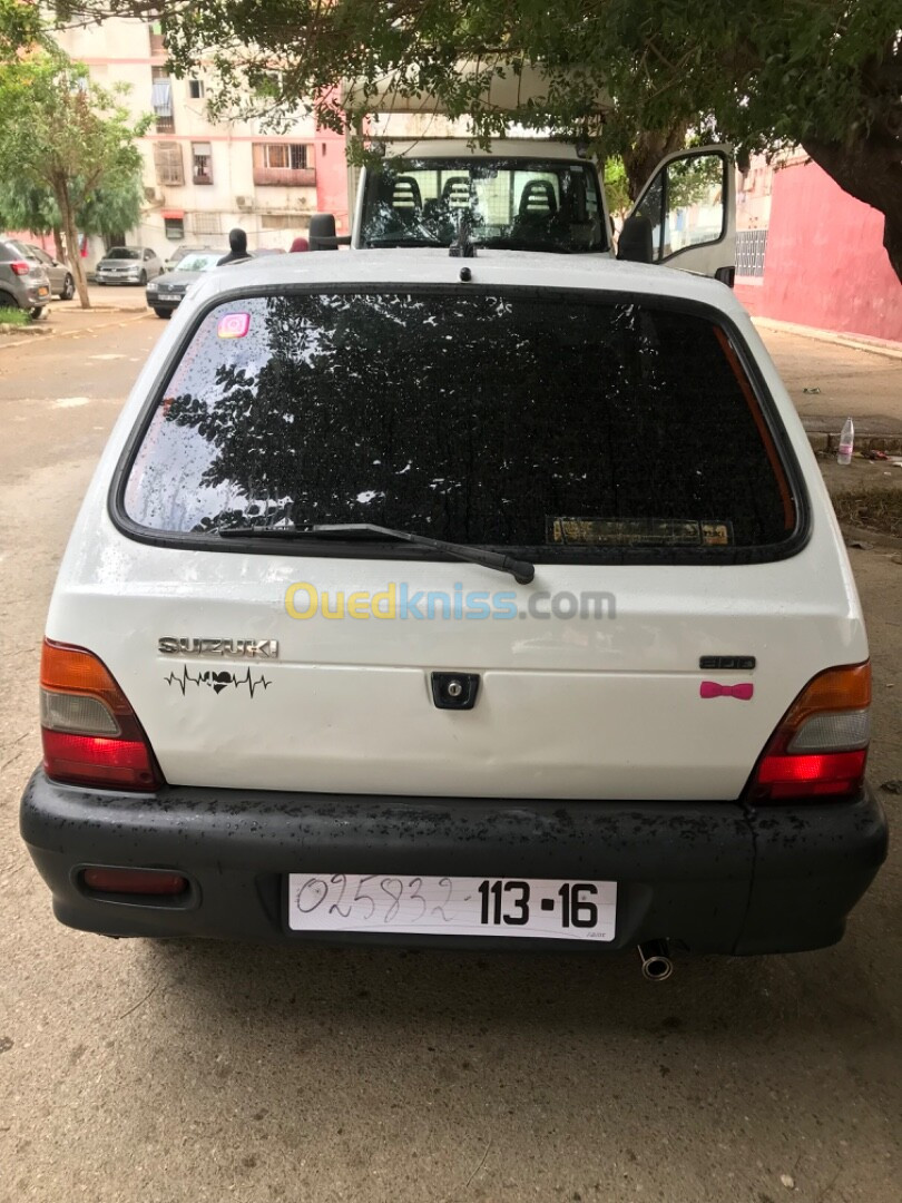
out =
[[[150,11],[146,0],[65,4]],[[623,156],[633,183],[641,131],[666,143],[689,126],[741,155],[801,143],[884,213],[902,275],[898,0],[162,0],[155,11],[174,70],[202,55],[215,66],[220,112],[250,94],[278,120],[313,96],[324,124],[354,126],[390,78],[398,96],[425,91],[468,115],[480,140],[511,120],[584,130]],[[462,72],[464,60],[476,70]],[[492,79],[532,67],[547,79],[542,95],[495,107]],[[356,85],[346,103],[340,79]]]

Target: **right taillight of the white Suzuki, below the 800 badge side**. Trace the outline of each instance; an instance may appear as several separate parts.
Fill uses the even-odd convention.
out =
[[[827,669],[811,680],[758,761],[750,796],[781,801],[856,793],[867,763],[870,706],[870,662]]]

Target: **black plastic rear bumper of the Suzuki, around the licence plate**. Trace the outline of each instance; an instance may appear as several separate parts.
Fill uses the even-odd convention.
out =
[[[37,771],[22,835],[57,918],[112,936],[616,950],[669,938],[699,953],[835,943],[886,855],[870,790],[847,802],[611,802],[284,794],[170,787],[90,793]],[[162,867],[191,882],[155,905],[89,896],[85,865]],[[290,872],[616,881],[613,943],[410,935],[298,936]]]

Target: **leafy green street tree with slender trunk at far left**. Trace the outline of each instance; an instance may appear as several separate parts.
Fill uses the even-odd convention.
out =
[[[140,209],[141,153],[123,91],[93,84],[87,67],[59,51],[31,49],[0,61],[0,179],[7,195],[49,218],[48,194],[65,235],[78,296],[88,288],[77,230],[101,231],[114,220],[133,225]]]

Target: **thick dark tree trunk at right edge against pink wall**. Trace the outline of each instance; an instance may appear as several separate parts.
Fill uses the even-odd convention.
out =
[[[806,138],[802,147],[844,192],[883,213],[883,244],[892,271],[902,283],[902,162],[898,142],[872,134],[851,146]]]

